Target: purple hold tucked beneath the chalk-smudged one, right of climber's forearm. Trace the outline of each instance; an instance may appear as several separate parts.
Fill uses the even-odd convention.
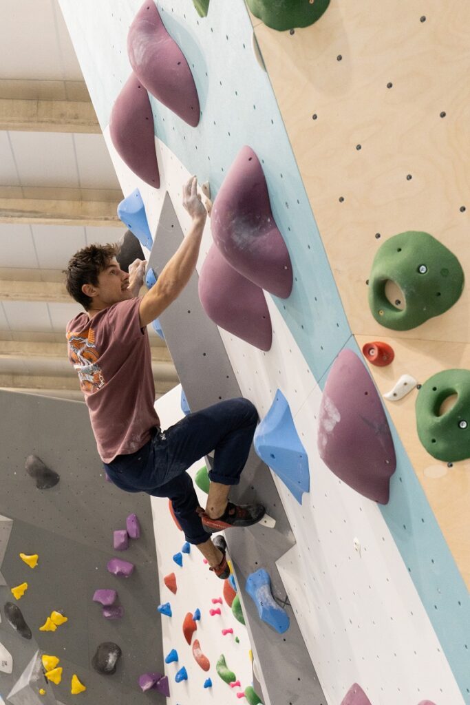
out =
[[[225,331],[269,350],[273,338],[263,290],[228,264],[212,245],[199,276],[199,298],[210,319]]]

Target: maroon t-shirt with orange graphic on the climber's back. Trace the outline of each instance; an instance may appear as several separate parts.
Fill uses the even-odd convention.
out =
[[[89,319],[67,324],[68,359],[78,372],[98,453],[103,462],[135,453],[160,425],[147,328],[140,298],[121,301]]]

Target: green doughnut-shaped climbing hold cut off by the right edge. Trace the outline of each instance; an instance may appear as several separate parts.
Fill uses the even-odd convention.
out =
[[[451,406],[445,400],[457,395]],[[419,440],[433,458],[470,458],[470,370],[445,369],[430,377],[416,398]]]

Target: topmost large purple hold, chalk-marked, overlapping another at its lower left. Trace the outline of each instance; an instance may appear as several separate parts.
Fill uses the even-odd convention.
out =
[[[199,98],[191,69],[166,31],[154,1],[144,2],[128,34],[130,65],[147,90],[185,122],[199,123]]]

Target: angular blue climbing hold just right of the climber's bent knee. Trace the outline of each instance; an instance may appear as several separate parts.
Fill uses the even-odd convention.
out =
[[[309,458],[295,430],[289,404],[278,389],[254,434],[254,448],[261,460],[276,472],[287,489],[302,504],[302,493],[310,489]]]

